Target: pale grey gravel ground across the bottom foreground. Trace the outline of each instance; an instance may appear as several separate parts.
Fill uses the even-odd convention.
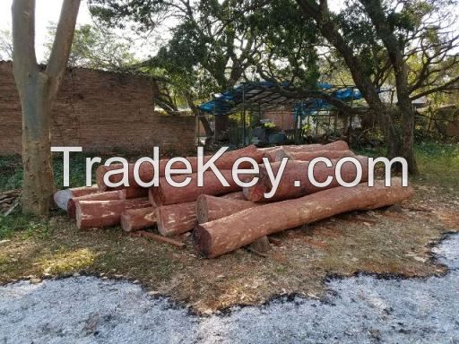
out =
[[[0,288],[0,343],[459,343],[459,236],[444,277],[332,280],[296,297],[196,316],[129,282],[75,277]]]

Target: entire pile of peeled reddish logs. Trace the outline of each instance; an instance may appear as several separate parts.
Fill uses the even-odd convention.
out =
[[[241,157],[250,157],[260,164],[258,182],[249,187],[237,185],[231,174],[234,162]],[[309,161],[316,157],[331,159],[332,167],[316,164],[314,176],[324,183],[332,177],[332,183],[325,187],[313,185],[307,176]],[[344,187],[338,184],[335,167],[339,159],[353,157],[362,166],[361,184]],[[270,162],[271,169],[263,165],[263,158]],[[279,185],[273,197],[266,199],[264,193],[272,190],[270,175],[277,176],[281,159],[288,158]],[[205,157],[210,159],[209,157]],[[191,182],[184,187],[169,185],[165,176],[168,159],[159,164],[158,186],[143,188],[135,182],[134,164],[129,165],[129,185],[110,189],[104,183],[104,176],[117,183],[122,174],[116,172],[121,165],[100,166],[97,169],[97,185],[61,190],[55,193],[58,206],[75,219],[79,229],[105,228],[120,225],[132,236],[145,236],[163,243],[183,247],[180,236],[192,232],[197,252],[204,257],[214,258],[240,247],[262,254],[269,243],[269,236],[289,228],[326,219],[348,211],[366,211],[392,205],[409,198],[411,187],[403,187],[400,179],[394,178],[391,187],[376,181],[373,187],[368,180],[368,159],[357,156],[349,150],[346,142],[338,141],[326,145],[309,144],[300,146],[279,146],[258,149],[248,146],[224,153],[214,165],[228,181],[221,185],[217,176],[208,170],[204,172],[204,186],[197,186],[197,158],[187,158],[194,173],[172,176],[176,183],[186,177]],[[174,168],[181,168],[180,163]],[[252,168],[247,161],[238,168]],[[151,181],[154,168],[143,163],[139,176],[144,182]],[[357,168],[351,162],[342,164],[342,181],[351,183],[357,176]],[[251,176],[240,176],[248,182]],[[145,231],[156,228],[159,234]]]

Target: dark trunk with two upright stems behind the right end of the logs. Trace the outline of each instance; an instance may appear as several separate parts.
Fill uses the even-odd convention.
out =
[[[342,37],[340,25],[333,19],[326,1],[316,0],[297,0],[302,12],[316,21],[317,28],[333,47],[340,53],[347,64],[352,79],[357,88],[361,91],[368,106],[377,115],[381,116],[385,125],[385,141],[387,142],[387,157],[403,157],[407,160],[410,172],[418,172],[416,159],[413,151],[413,131],[414,131],[414,112],[411,107],[411,101],[407,94],[407,73],[406,65],[400,51],[397,51],[398,44],[394,39],[392,30],[387,29],[387,20],[384,13],[381,13],[381,2],[379,0],[360,0],[365,5],[372,22],[377,28],[378,35],[384,41],[385,47],[389,52],[391,64],[394,66],[394,73],[397,86],[397,98],[399,109],[402,114],[402,125],[396,125],[394,122],[394,111],[387,107],[376,92],[376,86],[371,82],[369,75],[363,71],[364,62],[354,54],[353,48],[349,42]],[[375,13],[375,9],[379,13]]]

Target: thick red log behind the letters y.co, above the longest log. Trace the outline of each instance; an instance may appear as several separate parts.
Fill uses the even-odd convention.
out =
[[[360,166],[362,167],[362,178],[360,182],[368,181],[368,157],[357,156]],[[244,188],[244,194],[247,200],[252,202],[276,202],[297,198],[310,193],[317,193],[332,187],[339,186],[335,176],[335,167],[339,159],[332,159],[332,167],[327,168],[324,163],[317,163],[314,167],[314,176],[317,182],[324,183],[328,176],[332,176],[333,180],[330,185],[318,187],[312,185],[307,176],[307,168],[309,161],[289,160],[285,165],[281,181],[277,187],[276,192],[271,198],[264,198],[264,193],[268,193],[273,188],[268,172],[264,165],[260,166],[260,176],[258,183],[254,186]],[[280,162],[273,162],[273,174],[277,175]],[[342,180],[346,183],[351,183],[357,176],[357,168],[351,162],[345,162],[341,168]],[[299,182],[299,186],[295,186],[295,182]]]

